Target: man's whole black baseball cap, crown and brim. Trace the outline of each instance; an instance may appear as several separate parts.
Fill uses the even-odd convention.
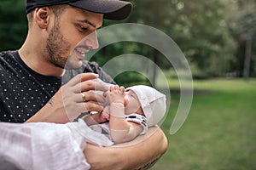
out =
[[[104,14],[104,18],[109,20],[124,20],[131,13],[131,3],[119,0],[26,0],[26,14],[34,8],[61,4]]]

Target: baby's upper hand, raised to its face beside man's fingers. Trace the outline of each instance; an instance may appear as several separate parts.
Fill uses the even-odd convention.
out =
[[[119,87],[118,85],[114,85],[109,88],[108,98],[110,103],[120,103],[124,104],[124,94],[125,88]]]

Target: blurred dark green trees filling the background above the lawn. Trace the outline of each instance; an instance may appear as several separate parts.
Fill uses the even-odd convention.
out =
[[[248,29],[255,32],[254,0],[131,0],[131,3],[133,11],[128,19],[104,20],[104,26],[139,23],[166,33],[181,48],[196,78],[242,76],[246,48],[244,37]],[[0,20],[0,50],[20,48],[27,29],[25,0],[2,0]],[[253,42],[250,75],[254,77],[255,46]],[[120,54],[140,54],[163,70],[172,69],[172,64],[163,54],[140,42],[113,43],[102,48],[90,60],[104,65]],[[154,75],[154,69],[152,71]],[[130,77],[137,77],[132,72],[130,74]]]

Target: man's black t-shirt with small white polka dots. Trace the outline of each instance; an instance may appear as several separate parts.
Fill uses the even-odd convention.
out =
[[[49,101],[61,84],[84,71],[95,72],[104,81],[114,83],[96,63],[84,61],[83,67],[66,71],[64,77],[48,77],[32,71],[17,51],[0,53],[0,122],[25,122]]]

